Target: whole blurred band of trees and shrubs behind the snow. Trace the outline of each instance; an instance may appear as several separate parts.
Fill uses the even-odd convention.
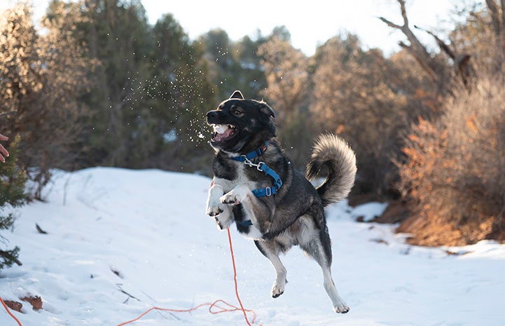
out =
[[[0,133],[20,137],[32,199],[55,169],[210,176],[205,113],[238,89],[276,111],[299,170],[315,135],[344,137],[358,159],[350,204],[389,202],[378,222],[400,223],[411,243],[504,241],[504,2],[465,1],[445,35],[408,25],[397,5],[403,21],[379,19],[405,36],[399,52],[347,33],[307,57],[282,26],[192,40],[171,14],[149,25],[139,0],[53,0],[39,30],[20,3],[0,18]]]

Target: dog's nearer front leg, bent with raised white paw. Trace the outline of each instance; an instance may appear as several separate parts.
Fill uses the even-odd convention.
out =
[[[242,204],[247,219],[251,219],[259,231],[265,234],[270,230],[272,224],[272,210],[254,196],[251,186],[247,183],[235,186],[232,191],[221,196],[220,201],[228,205]]]

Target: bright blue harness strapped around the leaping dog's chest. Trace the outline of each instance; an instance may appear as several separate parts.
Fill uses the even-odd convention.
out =
[[[260,188],[260,189],[253,189],[251,190],[252,193],[254,193],[254,196],[256,197],[264,197],[264,196],[272,196],[279,191],[280,187],[282,186],[282,180],[277,175],[277,173],[270,169],[268,165],[265,164],[265,162],[258,162],[258,164],[252,163],[252,159],[256,158],[258,156],[263,155],[265,151],[267,150],[268,147],[268,142],[265,142],[260,148],[251,151],[248,154],[245,155],[240,155],[240,156],[234,156],[232,157],[233,160],[243,162],[245,165],[249,167],[255,167],[258,171],[261,171],[265,173],[265,175],[270,176],[274,180],[274,184],[272,186],[267,186],[265,188]],[[236,221],[237,224],[240,226],[251,226],[252,222],[250,219],[247,221]]]

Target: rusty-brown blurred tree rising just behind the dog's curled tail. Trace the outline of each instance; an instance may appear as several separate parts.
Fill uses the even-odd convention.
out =
[[[322,130],[338,133],[357,154],[353,194],[394,196],[399,133],[408,97],[394,83],[396,66],[380,50],[363,50],[357,36],[335,36],[314,55],[310,111]]]

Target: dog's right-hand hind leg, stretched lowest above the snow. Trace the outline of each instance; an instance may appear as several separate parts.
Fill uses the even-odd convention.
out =
[[[323,214],[321,212],[321,214]],[[331,277],[331,242],[328,235],[328,229],[324,225],[324,229],[319,229],[314,222],[305,222],[304,236],[298,238],[298,243],[305,253],[314,258],[321,266],[323,271],[323,284],[326,294],[330,297],[333,303],[333,308],[336,313],[347,313],[349,306],[338,294],[333,278]]]

